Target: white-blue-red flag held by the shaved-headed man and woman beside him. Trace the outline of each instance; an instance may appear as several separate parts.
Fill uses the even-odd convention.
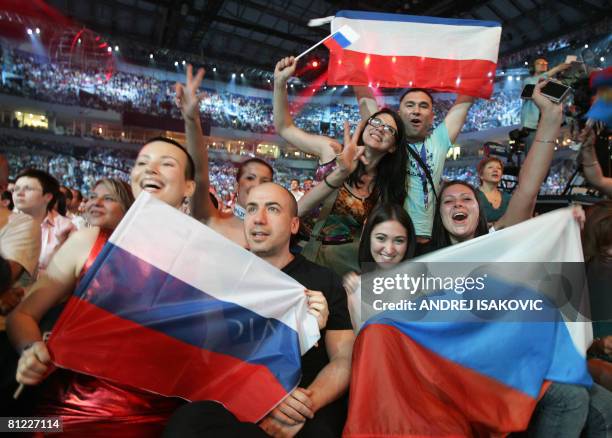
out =
[[[302,285],[143,193],[48,345],[60,367],[256,422],[297,386],[319,336]]]

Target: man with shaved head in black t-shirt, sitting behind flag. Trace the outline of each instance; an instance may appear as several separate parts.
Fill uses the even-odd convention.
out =
[[[258,425],[239,422],[218,403],[197,402],[173,415],[164,436],[339,437],[346,420],[355,340],[342,280],[330,269],[289,251],[299,219],[295,198],[284,187],[274,183],[253,187],[244,227],[251,252],[307,288],[309,312],[317,318],[321,341],[302,357],[298,388]]]

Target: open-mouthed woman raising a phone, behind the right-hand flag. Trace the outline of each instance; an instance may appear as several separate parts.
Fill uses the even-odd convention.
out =
[[[536,85],[533,93],[533,101],[541,112],[538,130],[521,169],[518,187],[504,215],[488,228],[476,189],[463,181],[447,182],[440,190],[433,238],[426,252],[466,242],[531,218],[540,186],[552,161],[555,138],[562,121],[561,105],[542,96],[543,85],[543,82]],[[553,435],[556,436],[579,436],[585,424],[589,429],[607,430],[606,427],[610,426],[599,416],[598,406],[609,406],[606,401],[608,394],[600,389],[594,387],[589,393],[582,386],[552,382],[538,402],[527,433],[535,437],[549,436],[551,428],[554,428]],[[573,402],[568,403],[569,400]],[[586,420],[589,402],[591,411],[597,412],[597,424],[592,416]]]

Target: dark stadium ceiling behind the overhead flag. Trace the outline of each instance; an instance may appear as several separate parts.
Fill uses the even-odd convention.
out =
[[[563,36],[610,17],[610,0],[48,0],[47,4],[108,38],[171,56],[271,71],[329,32],[312,18],[341,9],[502,23],[500,56]],[[123,50],[123,48],[122,48]],[[165,52],[164,52],[165,51]],[[320,52],[325,56],[325,52]]]

